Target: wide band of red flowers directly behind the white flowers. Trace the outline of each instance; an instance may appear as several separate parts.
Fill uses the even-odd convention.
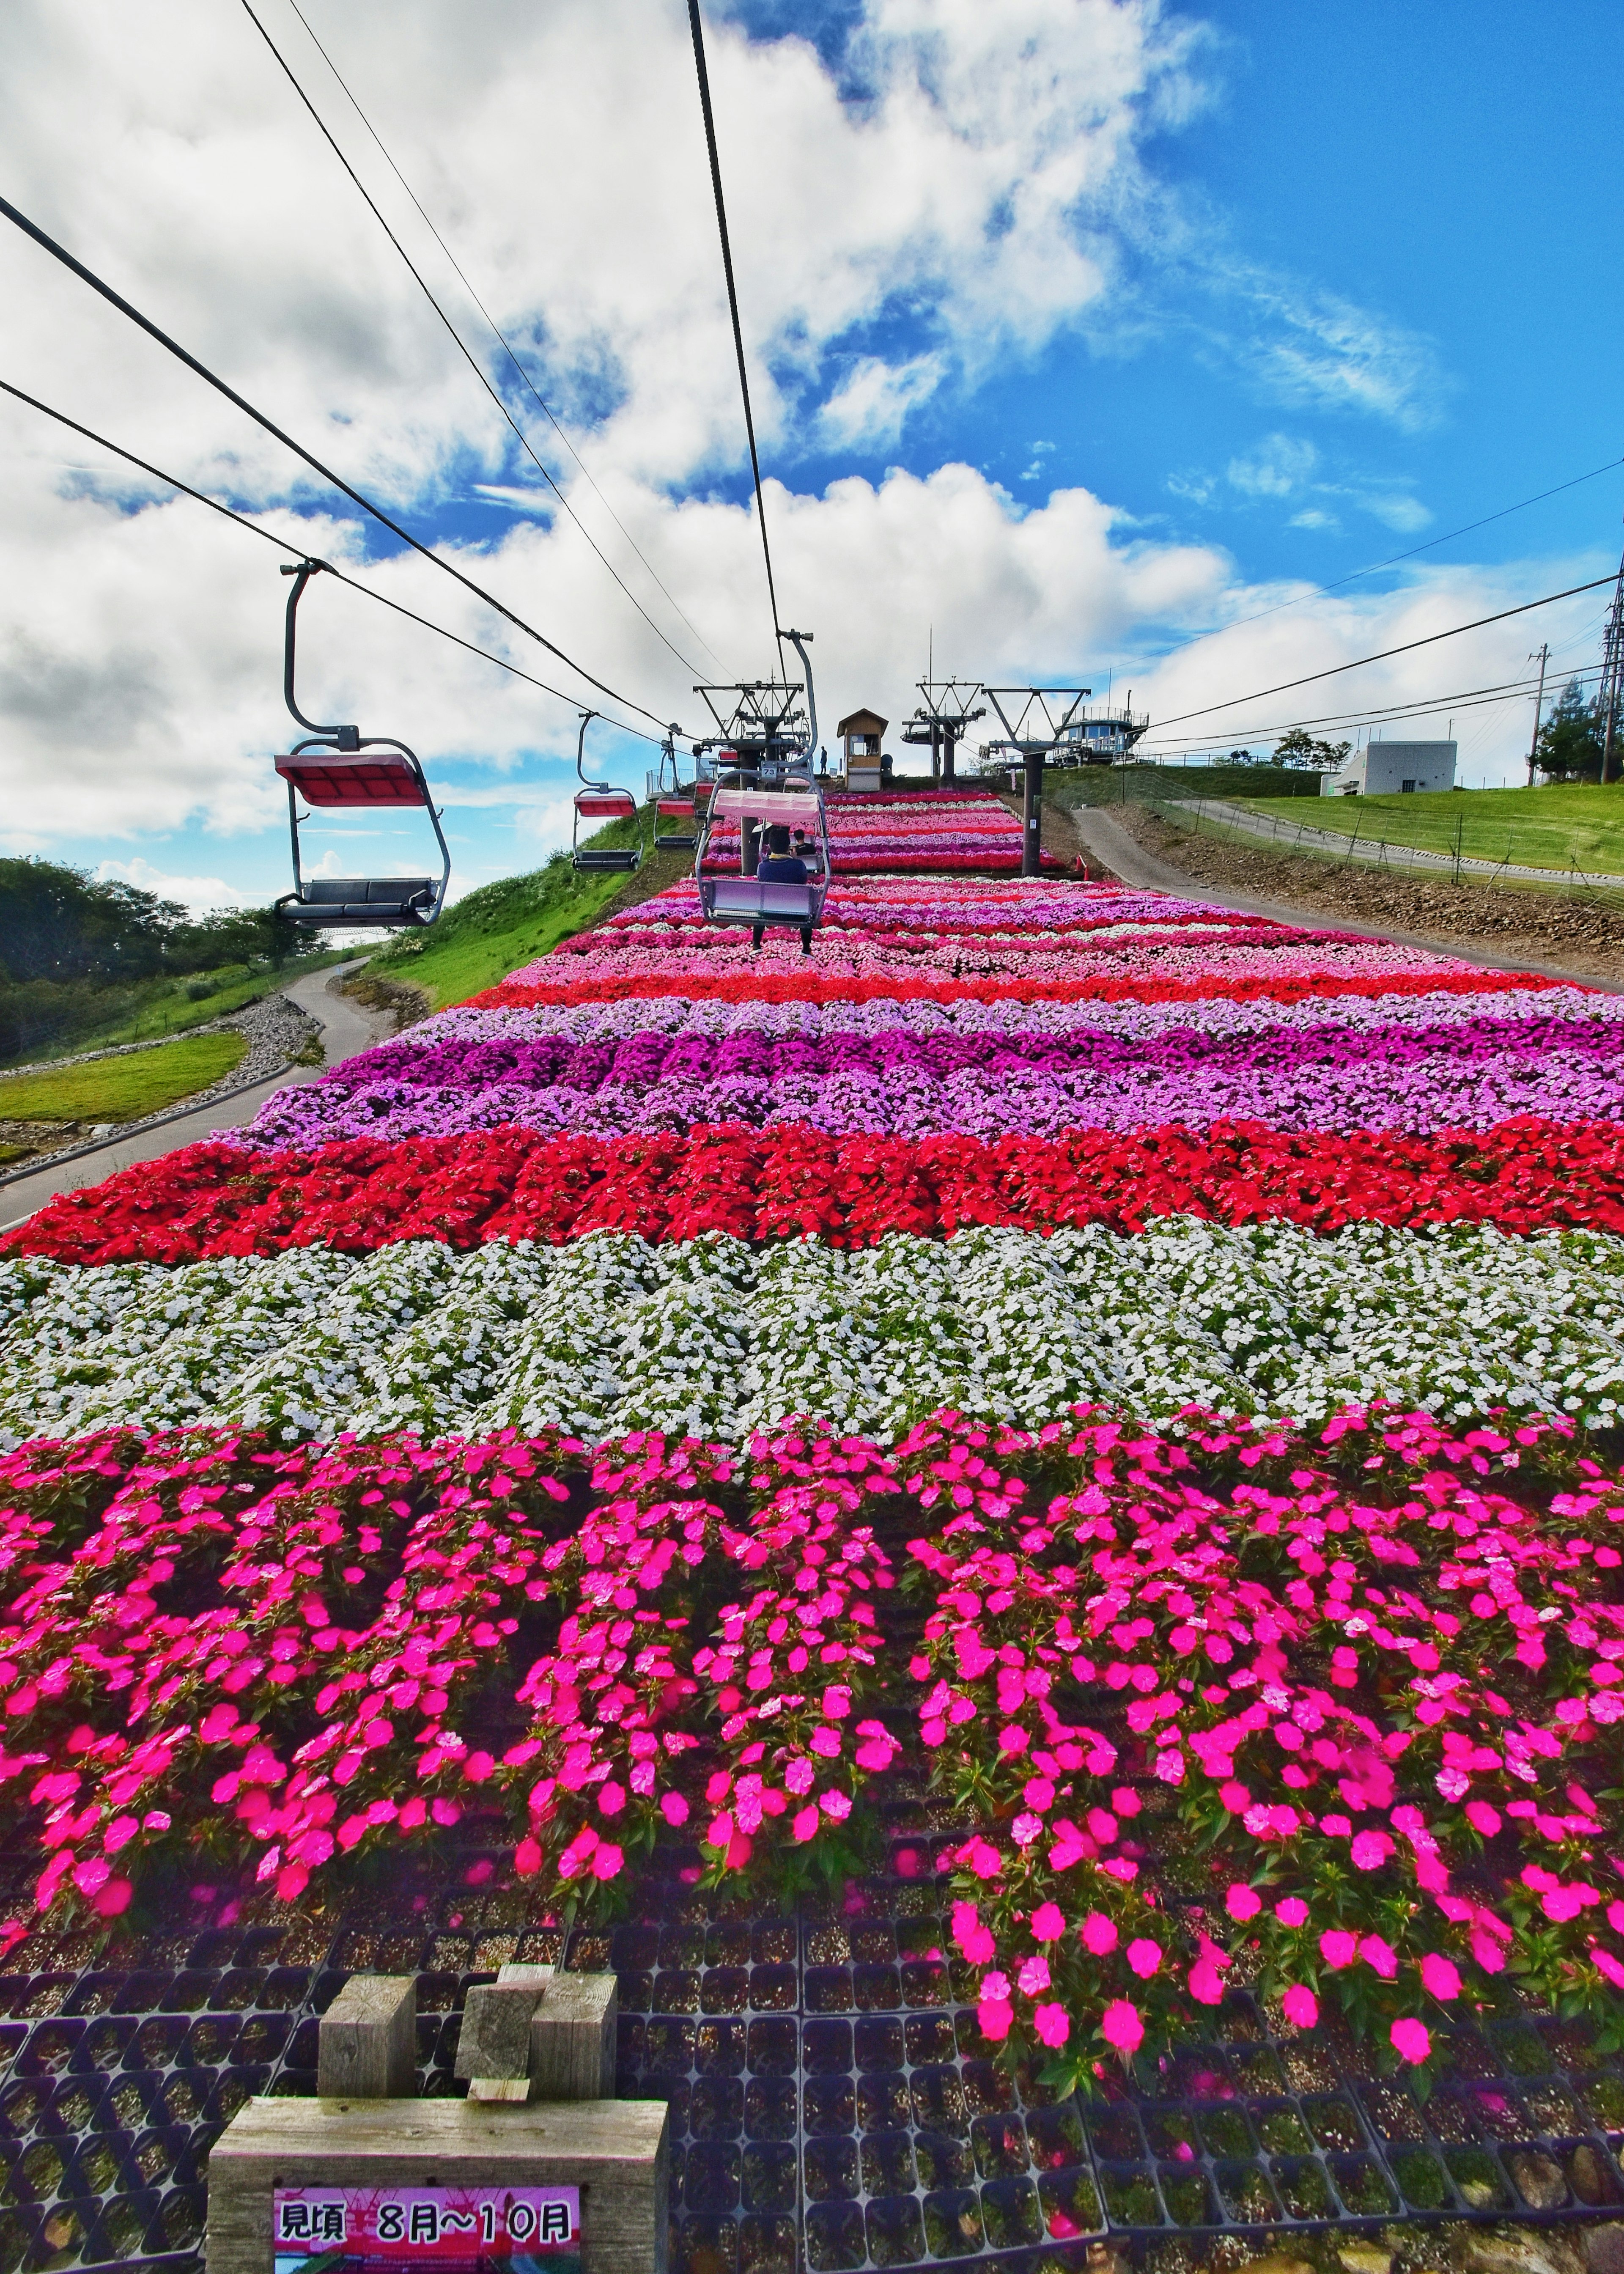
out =
[[[1283,1217],[1328,1233],[1353,1221],[1565,1223],[1624,1230],[1624,1128],[1506,1121],[1494,1130],[1326,1135],[1262,1123],[1067,1137],[830,1137],[739,1126],[682,1135],[544,1137],[475,1130],[407,1144],[350,1139],[312,1153],[198,1144],[64,1194],[0,1253],[73,1264],[196,1262],[396,1239],[644,1239],[812,1235],[869,1246],[967,1223],[1049,1233],[1140,1230],[1151,1217]]]

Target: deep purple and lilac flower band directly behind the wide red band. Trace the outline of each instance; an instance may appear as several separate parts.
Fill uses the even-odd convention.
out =
[[[1303,1130],[1492,1128],[1517,1114],[1624,1119],[1617,1021],[1467,1019],[1217,1037],[1126,1035],[653,1035],[578,1044],[384,1046],[366,1080],[330,1076],[271,1098],[250,1144],[798,1121],[830,1132],[1058,1135],[1217,1119]]]

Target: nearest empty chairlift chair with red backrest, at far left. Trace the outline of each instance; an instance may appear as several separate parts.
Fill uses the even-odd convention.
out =
[[[275,903],[291,923],[314,930],[407,930],[434,923],[446,905],[450,848],[428,791],[423,766],[393,735],[362,735],[355,725],[316,725],[293,700],[293,632],[305,584],[323,562],[284,568],[293,578],[287,596],[282,644],[282,696],[307,737],[275,760],[287,782],[287,821],[293,844],[293,891]],[[441,855],[439,875],[305,875],[300,862],[298,800],[314,807],[382,810],[416,805],[428,814]],[[309,819],[309,816],[307,816]]]

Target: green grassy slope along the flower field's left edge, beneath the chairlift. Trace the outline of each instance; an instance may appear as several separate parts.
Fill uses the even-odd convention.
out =
[[[630,839],[632,823],[616,821],[589,841],[614,846]],[[560,939],[596,923],[610,905],[641,901],[691,866],[691,853],[664,853],[644,860],[635,875],[578,875],[569,853],[555,853],[546,869],[505,875],[471,891],[428,935],[391,939],[373,955],[368,971],[421,987],[430,1007],[444,1010],[546,955]]]

